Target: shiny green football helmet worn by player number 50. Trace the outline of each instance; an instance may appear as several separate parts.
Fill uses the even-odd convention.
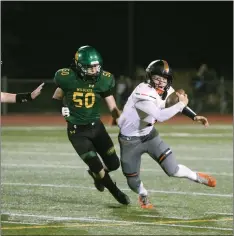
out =
[[[95,48],[88,45],[80,47],[74,60],[77,73],[83,80],[97,82],[102,73],[102,57]]]

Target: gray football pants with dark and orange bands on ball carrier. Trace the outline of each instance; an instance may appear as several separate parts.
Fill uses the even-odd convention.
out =
[[[155,128],[150,134],[141,137],[119,134],[118,140],[122,171],[134,192],[137,192],[141,183],[140,166],[144,153],[148,153],[168,176],[173,176],[178,171],[178,164],[171,149],[161,140]]]

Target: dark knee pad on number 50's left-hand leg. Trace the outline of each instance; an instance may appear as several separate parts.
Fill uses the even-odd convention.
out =
[[[103,169],[102,162],[95,152],[84,153],[81,158],[93,173],[98,174]]]

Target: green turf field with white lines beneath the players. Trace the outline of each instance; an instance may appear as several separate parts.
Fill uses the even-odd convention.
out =
[[[108,128],[119,154],[117,128]],[[121,206],[98,192],[62,127],[3,127],[2,235],[232,235],[233,128],[159,125],[179,163],[212,174],[217,187],[167,177],[142,156],[141,178],[153,210],[138,206],[121,170],[112,173],[131,198]]]

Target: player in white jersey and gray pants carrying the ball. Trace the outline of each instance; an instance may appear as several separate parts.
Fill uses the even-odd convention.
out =
[[[140,179],[141,155],[148,153],[168,176],[187,178],[209,187],[216,186],[216,180],[200,172],[178,164],[170,147],[160,138],[154,127],[178,112],[208,126],[203,116],[198,116],[189,107],[187,95],[177,93],[179,102],[165,108],[166,98],[174,92],[172,71],[164,60],[155,60],[146,69],[147,82],[140,83],[129,96],[118,120],[121,167],[128,186],[139,195],[142,208],[152,208],[148,192]]]

